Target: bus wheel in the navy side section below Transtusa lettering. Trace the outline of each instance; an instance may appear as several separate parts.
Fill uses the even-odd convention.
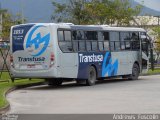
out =
[[[97,78],[96,70],[93,66],[91,66],[88,71],[88,79],[86,81],[86,85],[88,86],[95,85],[96,78]]]

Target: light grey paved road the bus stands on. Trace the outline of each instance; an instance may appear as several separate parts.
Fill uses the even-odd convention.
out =
[[[67,83],[16,90],[7,96],[15,114],[160,113],[160,75],[109,80],[95,86]]]

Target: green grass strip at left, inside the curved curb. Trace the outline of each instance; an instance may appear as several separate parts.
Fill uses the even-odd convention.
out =
[[[20,79],[20,80],[15,80],[14,83],[11,82],[9,78],[9,74],[7,72],[4,72],[2,74],[2,77],[0,79],[0,109],[4,108],[8,105],[8,101],[5,98],[6,92],[16,86],[21,86],[21,85],[29,85],[33,83],[40,83],[43,82],[44,80],[42,79]]]

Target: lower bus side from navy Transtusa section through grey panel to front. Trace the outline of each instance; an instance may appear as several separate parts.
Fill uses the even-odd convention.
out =
[[[79,69],[77,78],[87,79],[88,69],[91,65],[95,66],[98,78],[132,74],[133,64],[139,62],[138,56],[138,51],[81,52],[78,54]]]

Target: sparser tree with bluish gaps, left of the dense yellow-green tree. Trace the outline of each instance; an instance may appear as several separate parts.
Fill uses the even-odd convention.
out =
[[[86,0],[69,0],[68,3],[52,2],[55,12],[52,20],[57,22],[73,22],[75,24],[84,24],[89,18],[85,5]]]

